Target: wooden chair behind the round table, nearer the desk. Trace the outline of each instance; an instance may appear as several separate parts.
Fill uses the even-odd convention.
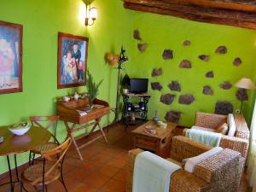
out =
[[[30,151],[29,165],[31,165],[31,159],[33,162],[35,158],[35,154],[41,154],[42,151],[55,148],[60,144],[56,138],[56,128],[57,128],[59,116],[31,116],[29,117],[29,119],[31,120],[32,125],[38,125],[44,129],[49,129],[50,127],[53,127],[54,129],[54,134],[51,133],[51,137],[54,139],[53,142],[49,141],[48,143],[44,143],[38,146],[37,148],[34,148],[32,151]],[[46,125],[43,125],[44,123],[46,123]]]

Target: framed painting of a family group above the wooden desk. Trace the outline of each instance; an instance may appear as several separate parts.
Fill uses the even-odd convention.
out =
[[[86,84],[88,38],[59,32],[58,89]]]

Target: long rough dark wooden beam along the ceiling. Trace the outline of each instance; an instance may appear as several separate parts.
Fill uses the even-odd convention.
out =
[[[256,29],[256,14],[254,13],[170,2],[166,0],[124,0],[124,7],[154,14],[172,15],[187,20]]]

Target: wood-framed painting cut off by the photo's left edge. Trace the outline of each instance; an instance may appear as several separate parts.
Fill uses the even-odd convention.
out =
[[[22,30],[0,21],[0,94],[22,91]]]

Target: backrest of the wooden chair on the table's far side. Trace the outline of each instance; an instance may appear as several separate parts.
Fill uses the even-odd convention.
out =
[[[29,119],[31,120],[32,125],[38,125],[39,127],[42,127],[44,129],[49,129],[50,127],[53,127],[54,134],[51,134],[51,136],[54,138],[55,142],[59,143],[56,138],[56,128],[58,120],[60,119],[59,116],[30,116]]]

